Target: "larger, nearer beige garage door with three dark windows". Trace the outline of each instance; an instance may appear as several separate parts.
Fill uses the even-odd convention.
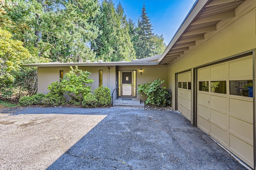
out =
[[[253,167],[252,56],[198,69],[197,122]]]

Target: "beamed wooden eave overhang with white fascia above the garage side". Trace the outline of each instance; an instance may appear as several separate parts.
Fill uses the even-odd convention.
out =
[[[209,33],[217,31],[220,21],[228,21],[236,16],[235,9],[244,1],[198,0],[158,60],[158,64],[170,65],[198,43],[205,41]]]

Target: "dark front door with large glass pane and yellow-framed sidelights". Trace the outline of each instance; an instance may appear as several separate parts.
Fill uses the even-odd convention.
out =
[[[136,97],[136,71],[118,71],[118,96]]]

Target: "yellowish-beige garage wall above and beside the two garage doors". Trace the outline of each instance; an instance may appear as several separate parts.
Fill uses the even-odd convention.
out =
[[[237,55],[256,48],[256,10],[236,20],[226,29],[196,47],[168,67],[168,88],[175,90],[175,73]],[[175,98],[173,94],[172,106]]]

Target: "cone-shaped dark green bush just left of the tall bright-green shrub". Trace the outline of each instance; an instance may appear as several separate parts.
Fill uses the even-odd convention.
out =
[[[45,95],[44,105],[47,106],[60,106],[66,104],[64,97],[64,90],[58,82],[52,82],[47,87],[50,92]]]

